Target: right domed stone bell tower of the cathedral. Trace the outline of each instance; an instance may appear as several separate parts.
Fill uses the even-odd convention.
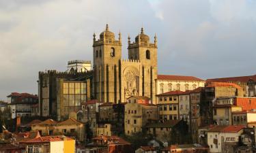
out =
[[[154,43],[150,43],[150,37],[141,33],[135,37],[135,42],[130,42],[128,37],[128,58],[138,60],[141,63],[141,96],[150,97],[153,102],[156,101],[156,79],[158,73],[157,62],[157,38],[154,37]]]

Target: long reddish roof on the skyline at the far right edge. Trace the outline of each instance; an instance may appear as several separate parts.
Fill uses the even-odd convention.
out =
[[[230,78],[214,78],[214,79],[208,79],[206,80],[206,82],[248,82],[248,80],[250,79],[256,81],[256,75],[230,77]]]

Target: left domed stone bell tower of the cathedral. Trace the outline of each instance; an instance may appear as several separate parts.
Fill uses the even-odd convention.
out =
[[[119,61],[122,58],[122,38],[115,40],[109,25],[96,40],[94,33],[94,98],[102,102],[119,101]]]

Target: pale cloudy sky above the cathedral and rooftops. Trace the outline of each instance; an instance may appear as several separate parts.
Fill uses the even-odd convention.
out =
[[[92,61],[106,23],[127,58],[128,35],[158,37],[158,73],[221,78],[256,74],[255,0],[0,0],[0,99],[38,94],[38,72]]]

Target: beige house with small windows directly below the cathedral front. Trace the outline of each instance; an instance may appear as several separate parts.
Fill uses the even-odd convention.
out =
[[[130,102],[125,105],[124,130],[126,135],[141,132],[147,120],[158,120],[157,105],[140,103],[141,100],[136,99],[136,97],[129,97]]]

